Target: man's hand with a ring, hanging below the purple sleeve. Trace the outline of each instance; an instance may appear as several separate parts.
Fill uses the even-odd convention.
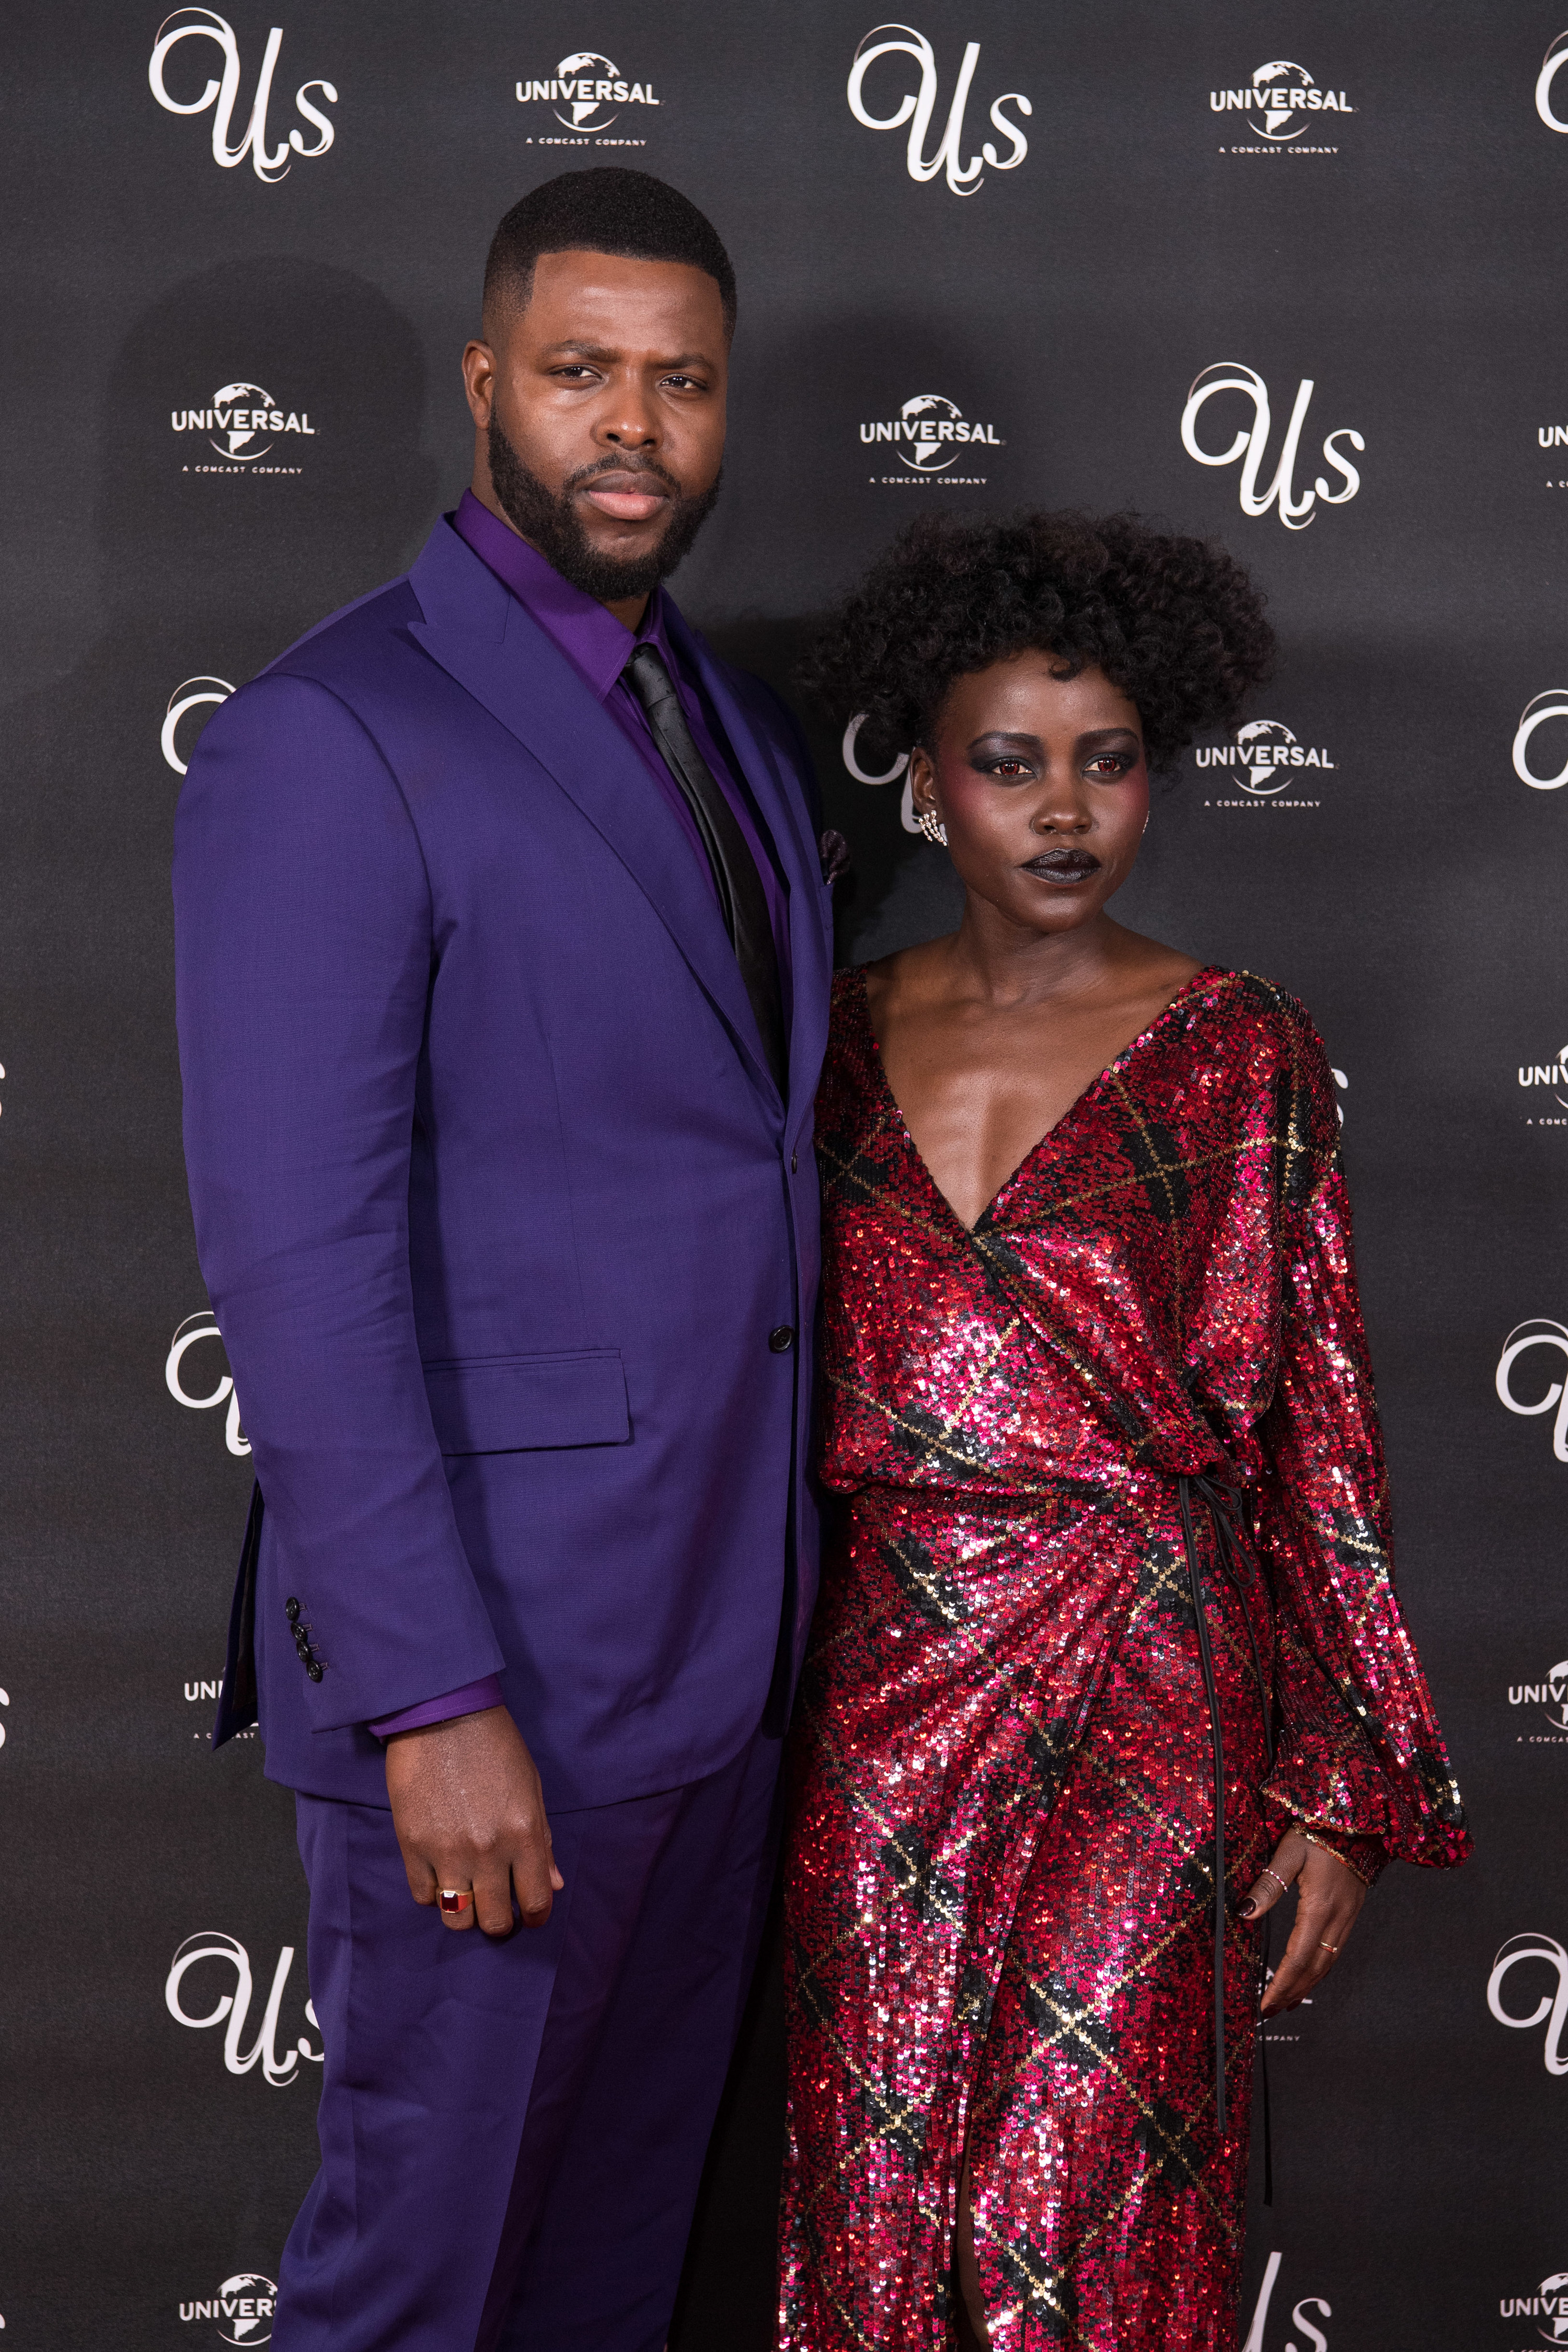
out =
[[[567,1882],[534,1757],[505,1708],[395,1731],[386,1792],[414,1900],[433,1905],[442,1886],[473,1886],[473,1903],[442,1912],[442,1926],[477,1922],[487,1936],[510,1936],[512,1889],[522,1924],[545,1924]]]

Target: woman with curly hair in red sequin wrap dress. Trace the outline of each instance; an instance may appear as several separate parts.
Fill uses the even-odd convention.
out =
[[[816,684],[964,920],[835,983],[788,2352],[1227,2347],[1262,1917],[1293,2009],[1467,1832],[1389,1522],[1312,1021],[1107,913],[1267,673],[1218,548],[914,524]],[[1215,1783],[1220,1802],[1215,1802]]]

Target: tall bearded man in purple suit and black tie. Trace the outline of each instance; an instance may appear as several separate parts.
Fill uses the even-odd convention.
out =
[[[663,181],[524,198],[470,494],[181,800],[186,1155],[256,1458],[219,1738],[259,1686],[327,2046],[277,2352],[656,2352],[757,1947],[832,955],[795,727],[658,586],[731,329]]]

